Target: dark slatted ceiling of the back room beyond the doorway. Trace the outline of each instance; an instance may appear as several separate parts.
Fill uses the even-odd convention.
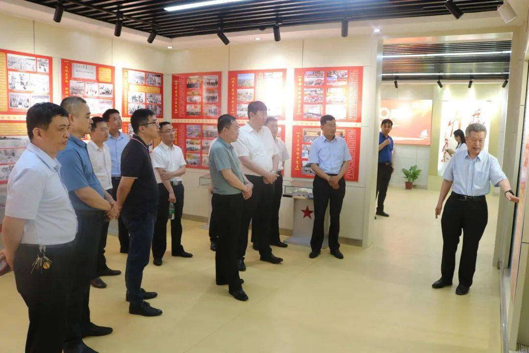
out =
[[[382,74],[396,73],[444,73],[444,79],[506,78],[504,73],[510,69],[510,41],[441,43],[441,44],[390,44],[384,46]],[[443,54],[471,53],[471,55],[443,56]],[[480,55],[479,53],[489,53]],[[419,56],[432,55],[435,56]],[[407,56],[413,57],[388,57]],[[453,74],[470,75],[453,75]],[[490,73],[490,75],[479,75]],[[450,75],[452,74],[452,75]],[[472,75],[475,74],[475,75]],[[399,80],[437,79],[437,75],[398,76]],[[394,76],[382,76],[385,80],[394,80]]]

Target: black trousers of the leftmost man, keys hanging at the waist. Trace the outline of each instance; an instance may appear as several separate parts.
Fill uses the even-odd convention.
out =
[[[28,306],[26,353],[60,353],[65,341],[70,302],[74,242],[47,247],[49,269],[31,273],[39,247],[21,244],[15,254],[15,282]]]

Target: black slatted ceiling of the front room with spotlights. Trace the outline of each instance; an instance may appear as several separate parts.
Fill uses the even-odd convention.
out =
[[[26,0],[55,7],[57,0]],[[120,11],[126,16],[154,22],[157,32],[168,38],[216,33],[222,23],[224,32],[269,28],[276,21],[282,26],[350,21],[390,19],[450,14],[446,0],[248,0],[214,5],[186,11],[167,12],[164,7],[200,0],[81,0],[82,3],[107,11]],[[465,13],[496,11],[503,0],[455,0]],[[116,16],[85,6],[63,1],[65,11],[91,19],[115,23]],[[150,32],[151,25],[124,20],[128,28]]]

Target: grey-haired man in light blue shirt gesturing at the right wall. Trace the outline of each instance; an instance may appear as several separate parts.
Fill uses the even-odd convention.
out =
[[[482,151],[487,129],[482,124],[470,124],[466,130],[468,151],[455,153],[443,175],[439,201],[435,207],[435,218],[441,214],[443,201],[450,188],[452,194],[446,201],[441,228],[443,232],[443,258],[441,278],[432,287],[439,289],[452,285],[455,269],[455,252],[463,232],[463,249],[459,264],[458,295],[467,294],[476,271],[478,245],[487,226],[488,211],[485,195],[490,192],[490,183],[500,187],[511,202],[518,198],[510,189],[509,180],[499,166],[498,159]]]

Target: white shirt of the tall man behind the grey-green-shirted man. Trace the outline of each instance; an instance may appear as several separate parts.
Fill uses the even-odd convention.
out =
[[[232,145],[238,157],[248,157],[266,171],[272,171],[272,158],[279,155],[276,142],[273,141],[272,133],[267,126],[257,131],[246,123],[239,129],[239,138]],[[244,174],[259,176],[243,165],[241,165],[241,170]]]

